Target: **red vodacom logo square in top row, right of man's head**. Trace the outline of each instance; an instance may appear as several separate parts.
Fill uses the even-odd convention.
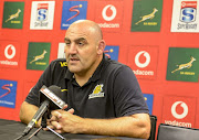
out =
[[[123,18],[123,1],[106,1],[96,2],[96,20],[95,22],[105,31],[118,32],[122,26]]]

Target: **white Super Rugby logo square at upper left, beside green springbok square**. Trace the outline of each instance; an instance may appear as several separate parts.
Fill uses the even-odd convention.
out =
[[[33,1],[31,11],[31,30],[52,30],[54,19],[54,1]]]

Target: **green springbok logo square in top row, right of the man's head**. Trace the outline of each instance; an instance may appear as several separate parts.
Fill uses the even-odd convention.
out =
[[[134,1],[132,31],[159,32],[161,22],[163,0]]]

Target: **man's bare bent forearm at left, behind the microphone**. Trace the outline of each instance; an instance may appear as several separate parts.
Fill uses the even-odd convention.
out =
[[[34,105],[31,105],[27,101],[23,101],[20,108],[20,120],[23,123],[29,123],[32,119],[32,117],[35,115],[38,111],[38,107]],[[38,122],[36,127],[41,125],[41,120]]]

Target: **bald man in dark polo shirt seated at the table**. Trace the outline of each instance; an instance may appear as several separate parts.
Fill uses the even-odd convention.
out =
[[[40,88],[56,85],[66,109],[53,110],[48,126],[57,132],[126,136],[148,139],[148,108],[133,71],[105,58],[100,26],[90,20],[74,22],[65,34],[65,60],[44,71],[21,106],[28,123],[39,108]]]

